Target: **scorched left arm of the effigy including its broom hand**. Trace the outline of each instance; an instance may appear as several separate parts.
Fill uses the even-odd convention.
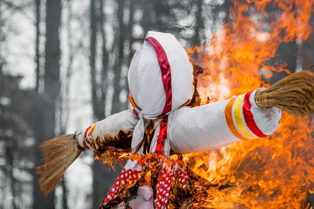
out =
[[[113,160],[124,161],[121,154],[131,151],[133,130],[138,120],[130,109],[94,123],[83,134],[67,134],[42,143],[39,148],[44,153],[45,164],[36,168],[41,175],[40,189],[45,194],[53,191],[66,169],[85,148],[104,158],[108,166],[114,166]]]

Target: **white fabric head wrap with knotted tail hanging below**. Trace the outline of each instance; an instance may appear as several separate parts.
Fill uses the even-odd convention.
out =
[[[152,38],[150,39],[150,37]],[[149,41],[152,39],[157,41],[159,49],[161,46],[163,50],[155,49],[156,47],[154,48]],[[166,111],[164,108],[168,98],[165,93],[166,87],[163,86],[165,81],[161,78],[160,51],[161,54],[162,51],[165,52],[171,72],[171,109],[167,108]],[[185,50],[173,35],[150,31],[146,35],[144,44],[136,51],[132,59],[128,81],[134,102],[140,108],[135,108],[139,112],[140,120],[135,126],[132,138],[134,153],[144,137],[147,126],[147,121],[144,119],[156,119],[161,114],[168,113],[192,99],[194,93],[193,67]]]

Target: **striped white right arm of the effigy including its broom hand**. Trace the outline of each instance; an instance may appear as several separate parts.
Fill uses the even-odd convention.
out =
[[[281,109],[297,117],[314,113],[314,73],[294,73],[267,89],[174,111],[170,146],[175,153],[200,152],[265,137],[278,128]]]

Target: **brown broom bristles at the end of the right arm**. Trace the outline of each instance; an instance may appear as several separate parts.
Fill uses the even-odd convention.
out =
[[[255,94],[259,107],[278,107],[294,116],[314,113],[314,73],[294,73]]]

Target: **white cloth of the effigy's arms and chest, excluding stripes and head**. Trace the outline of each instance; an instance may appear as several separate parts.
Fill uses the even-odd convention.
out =
[[[269,135],[278,128],[281,109],[276,107],[259,108],[254,102],[255,92],[250,96],[251,112],[259,129]],[[192,108],[184,106],[170,112],[168,115],[168,138],[164,140],[164,154],[169,156],[170,149],[178,154],[202,152],[240,141],[241,139],[230,131],[226,122],[225,107],[229,102],[230,100],[226,100]],[[111,115],[97,123],[91,137],[96,139],[97,137],[104,138],[103,136],[107,134],[116,135],[121,129],[132,131],[138,121],[139,117],[132,110]],[[150,152],[155,152],[159,123],[160,119],[157,119]],[[256,138],[258,137],[256,136]],[[143,154],[143,150],[140,149],[139,153]],[[137,170],[140,169],[133,161],[128,162],[126,166],[128,169],[133,167],[136,167]]]

